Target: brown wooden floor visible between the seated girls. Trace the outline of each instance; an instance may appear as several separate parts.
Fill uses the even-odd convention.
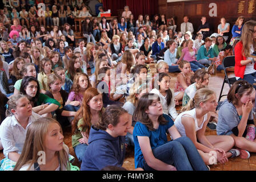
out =
[[[229,73],[230,76],[234,76],[234,73]],[[176,81],[177,73],[170,73],[171,76],[171,88],[174,88],[174,83]],[[216,75],[210,76],[209,88],[213,89],[216,93],[217,99],[219,97],[219,93],[221,91],[221,86],[223,82],[224,73],[217,73]],[[229,86],[225,84],[223,93],[227,93],[229,91]],[[224,100],[226,97],[222,97]],[[178,108],[177,108],[178,109]],[[69,146],[70,154],[75,156],[74,150],[71,144],[71,129],[67,128],[63,131],[64,133],[64,142]],[[206,130],[206,135],[216,135],[216,131],[211,131],[209,129]],[[3,159],[3,152],[0,151],[0,159]],[[80,166],[78,160],[75,159],[75,166]],[[126,169],[132,170],[134,169],[134,148],[128,147],[126,150],[126,158],[123,163],[123,167]],[[242,170],[256,170],[256,153],[251,153],[251,157],[249,159],[240,159],[234,158],[229,159],[229,162],[226,164],[215,164],[210,166],[211,171],[242,171]]]

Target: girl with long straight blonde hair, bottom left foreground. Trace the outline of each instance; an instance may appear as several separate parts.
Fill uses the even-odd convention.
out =
[[[40,118],[27,130],[25,144],[14,171],[66,171],[69,148],[63,143],[61,125],[52,118]],[[45,164],[38,152],[45,152]],[[39,162],[39,163],[38,163]]]

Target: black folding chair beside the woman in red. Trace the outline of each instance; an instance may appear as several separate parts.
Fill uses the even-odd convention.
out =
[[[235,56],[224,57],[224,59],[222,61],[222,65],[223,65],[223,68],[224,68],[225,77],[224,77],[224,80],[223,80],[223,84],[222,84],[222,88],[221,88],[221,93],[219,94],[218,102],[221,100],[221,97],[227,96],[227,94],[223,94],[222,95],[224,84],[229,84],[229,88],[230,88],[231,85],[233,85],[234,82],[237,81],[237,79],[235,77],[229,78],[227,76],[227,72],[226,72],[226,68],[232,68],[232,67],[235,66]]]

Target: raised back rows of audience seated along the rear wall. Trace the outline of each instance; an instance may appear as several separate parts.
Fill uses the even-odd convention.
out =
[[[53,4],[51,5],[51,3]],[[85,6],[84,3],[79,7],[75,5],[75,3],[68,4],[66,2],[56,1],[51,3],[46,3],[46,10],[42,11],[43,16],[38,15],[38,12],[41,11],[41,7],[37,8],[33,3],[26,4],[26,6],[16,5],[12,6],[12,8],[6,5],[4,9],[0,10],[0,22],[3,22],[4,26],[8,28],[7,32],[4,31],[5,28],[2,28],[2,31],[4,31],[1,32],[2,38],[7,40],[7,34],[10,33],[11,30],[17,30],[20,33],[18,37],[23,37],[23,39],[29,40],[30,36],[31,38],[38,37],[46,39],[46,35],[49,34],[49,32],[47,33],[45,30],[46,28],[50,30],[50,28],[54,29],[54,26],[61,26],[61,28],[66,29],[66,23],[74,24],[74,18],[76,17],[92,17],[89,13],[89,7]],[[81,4],[79,3],[79,5]],[[18,11],[16,8],[18,8]],[[10,10],[12,12],[10,12]],[[103,7],[99,7],[99,10],[98,17],[101,17],[101,14],[105,13],[105,11],[103,11]],[[224,17],[221,18],[221,24],[217,27],[218,32],[214,34],[211,34],[213,30],[211,30],[209,22],[206,22],[205,16],[202,16],[201,22],[202,23],[199,25],[197,32],[195,32],[193,24],[189,22],[189,17],[185,15],[183,17],[183,23],[180,25],[181,35],[179,35],[178,32],[177,36],[184,36],[186,32],[190,32],[190,36],[193,36],[193,39],[195,39],[197,34],[201,32],[203,34],[203,40],[208,36],[216,37],[217,35],[223,36],[226,41],[229,40],[230,23],[227,23]],[[11,23],[13,23],[13,26],[11,26]],[[231,42],[241,37],[243,23],[243,16],[239,16],[231,30]],[[134,15],[131,13],[128,6],[125,6],[119,22],[117,18],[114,18],[110,23],[108,23],[106,22],[106,18],[102,18],[101,23],[98,23],[97,18],[93,18],[88,23],[84,21],[84,24],[86,28],[83,30],[83,35],[86,34],[86,38],[90,35],[91,39],[96,38],[98,40],[101,39],[101,32],[103,30],[107,31],[110,38],[115,34],[121,34],[123,32],[127,34],[129,31],[133,31],[133,34],[136,35],[136,39],[137,31],[140,27],[143,27],[144,31],[139,34],[142,34],[143,36],[149,36],[151,30],[167,30],[167,34],[164,35],[165,39],[173,39],[174,36],[176,36],[175,32],[177,30],[177,24],[175,24],[174,17],[166,18],[164,14],[156,14],[153,17],[150,17],[150,15],[138,15],[138,19],[135,20]],[[41,26],[43,26],[44,30],[41,30]],[[25,28],[24,31],[22,31],[23,28]],[[71,29],[71,27],[69,29]],[[73,32],[69,32],[68,29],[65,31],[67,31],[65,36],[73,35]],[[181,39],[181,37],[179,37],[179,39]]]

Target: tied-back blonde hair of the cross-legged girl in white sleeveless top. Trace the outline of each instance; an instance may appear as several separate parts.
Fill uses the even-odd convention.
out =
[[[181,112],[194,108],[200,108],[200,103],[205,103],[209,101],[213,94],[215,94],[215,92],[207,88],[197,90],[197,92],[195,92],[194,98],[190,98],[189,103],[187,103],[186,106],[182,107]]]

